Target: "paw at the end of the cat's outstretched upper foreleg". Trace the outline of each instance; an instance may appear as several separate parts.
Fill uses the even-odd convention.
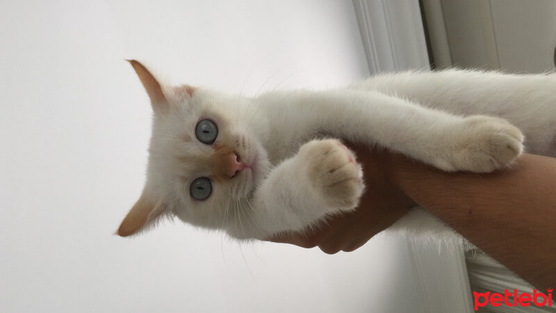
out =
[[[476,115],[465,118],[462,127],[445,170],[492,172],[509,166],[523,152],[523,134],[507,120]]]

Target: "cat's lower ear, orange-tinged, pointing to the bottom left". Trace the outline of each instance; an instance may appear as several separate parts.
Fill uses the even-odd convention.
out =
[[[156,218],[161,216],[164,211],[164,204],[162,201],[153,200],[149,195],[143,191],[139,200],[133,205],[129,213],[126,215],[117,234],[125,237],[136,234],[142,230],[145,225],[152,223]]]

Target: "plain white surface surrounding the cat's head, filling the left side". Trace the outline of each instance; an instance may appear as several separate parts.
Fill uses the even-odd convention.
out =
[[[325,255],[166,223],[113,232],[145,179],[150,107],[124,58],[254,95],[368,75],[352,3],[2,1],[0,312],[403,312],[406,242]]]

